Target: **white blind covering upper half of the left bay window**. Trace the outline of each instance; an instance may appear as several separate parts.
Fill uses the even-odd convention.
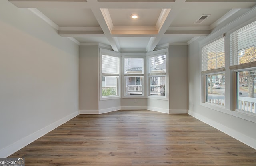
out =
[[[119,75],[119,58],[102,55],[102,75]]]

